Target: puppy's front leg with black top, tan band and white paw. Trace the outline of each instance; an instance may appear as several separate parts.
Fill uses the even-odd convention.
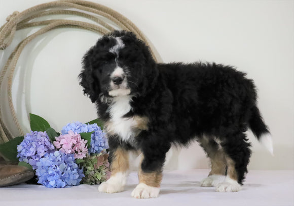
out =
[[[143,154],[142,154],[143,155]],[[154,157],[143,157],[139,168],[139,184],[132,192],[135,198],[155,198],[160,191],[162,180],[162,165],[164,161],[158,162]]]

